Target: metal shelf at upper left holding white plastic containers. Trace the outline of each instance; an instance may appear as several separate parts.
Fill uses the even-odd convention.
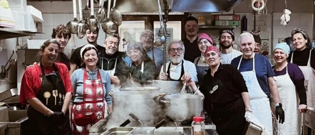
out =
[[[41,31],[24,32],[24,31],[14,30],[12,28],[0,28],[0,39],[35,36],[36,33],[43,33],[43,32]]]

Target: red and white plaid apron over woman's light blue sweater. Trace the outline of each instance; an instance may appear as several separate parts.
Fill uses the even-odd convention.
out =
[[[86,68],[84,68],[83,82],[83,102],[76,103],[72,107],[71,124],[73,135],[89,135],[89,128],[108,115],[108,107],[104,100],[102,78],[99,69],[97,69],[97,79],[89,80]],[[95,122],[86,126],[76,125],[74,116],[89,115],[92,113],[96,115],[97,120]]]

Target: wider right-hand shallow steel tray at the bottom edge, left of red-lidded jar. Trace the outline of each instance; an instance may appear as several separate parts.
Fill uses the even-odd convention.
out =
[[[143,127],[140,129],[140,127],[137,127],[133,135],[153,135],[154,128],[155,127]],[[160,127],[154,130],[154,135],[182,135],[183,127],[177,127],[176,130],[174,129],[175,127]]]

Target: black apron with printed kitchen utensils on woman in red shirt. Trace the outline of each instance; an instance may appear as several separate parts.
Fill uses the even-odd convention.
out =
[[[42,63],[40,63],[40,67],[42,71],[42,85],[36,97],[50,110],[61,111],[63,99],[60,100],[59,93],[65,96],[66,91],[62,79],[60,78],[60,74],[55,64],[53,64],[55,74],[45,75]],[[58,91],[56,100],[53,96],[54,90]],[[47,92],[50,93],[48,100],[44,97],[45,92],[46,94]],[[30,105],[27,109],[27,116],[30,120],[32,135],[71,135],[69,110],[67,110],[63,120],[56,122],[56,120],[52,120],[52,118],[45,116]]]

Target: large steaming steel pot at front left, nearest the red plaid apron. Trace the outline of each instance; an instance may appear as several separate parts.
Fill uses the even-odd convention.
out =
[[[152,126],[163,118],[162,104],[154,102],[153,97],[161,94],[161,91],[119,91],[112,93],[112,119],[121,124],[130,119],[129,113],[139,117],[140,121],[146,121],[143,126]]]

